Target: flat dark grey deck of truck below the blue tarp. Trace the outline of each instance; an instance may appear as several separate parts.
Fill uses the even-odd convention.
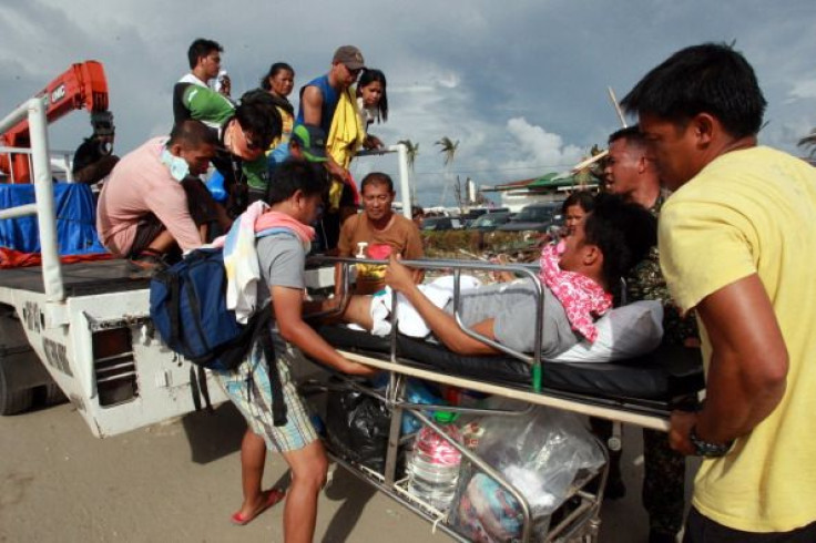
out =
[[[150,278],[128,268],[128,260],[95,260],[62,265],[65,296],[89,296],[149,288]],[[44,293],[40,266],[0,270],[0,288]]]

